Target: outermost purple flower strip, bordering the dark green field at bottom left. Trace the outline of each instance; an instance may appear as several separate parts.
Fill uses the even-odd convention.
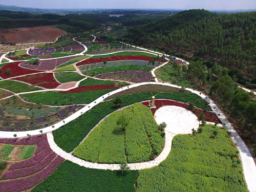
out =
[[[11,192],[11,191],[23,191],[25,189],[29,189],[39,182],[46,179],[49,175],[51,175],[56,168],[64,161],[60,156],[57,156],[56,159],[52,161],[52,163],[41,172],[24,179],[16,179],[16,180],[9,180],[1,183],[0,191]]]

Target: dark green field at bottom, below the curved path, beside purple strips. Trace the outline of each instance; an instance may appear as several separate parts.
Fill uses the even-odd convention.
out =
[[[137,174],[137,170],[131,170],[126,175],[120,175],[118,170],[86,168],[66,160],[52,175],[36,185],[32,192],[70,192],[71,189],[84,192],[130,192],[135,191]]]

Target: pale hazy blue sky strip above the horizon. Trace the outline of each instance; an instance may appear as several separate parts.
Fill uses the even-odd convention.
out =
[[[0,0],[0,4],[53,9],[256,9],[256,0]]]

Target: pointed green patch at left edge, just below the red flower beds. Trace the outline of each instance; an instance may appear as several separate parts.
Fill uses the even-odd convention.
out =
[[[40,88],[29,86],[26,83],[12,81],[12,80],[3,80],[0,81],[0,87],[3,89],[10,90],[14,93],[22,93],[22,92],[29,92],[29,91],[37,91],[42,90]]]

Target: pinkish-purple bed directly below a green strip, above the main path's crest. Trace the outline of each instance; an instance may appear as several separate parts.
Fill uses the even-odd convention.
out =
[[[146,71],[118,71],[96,75],[100,79],[118,79],[132,82],[154,81],[151,72]]]

